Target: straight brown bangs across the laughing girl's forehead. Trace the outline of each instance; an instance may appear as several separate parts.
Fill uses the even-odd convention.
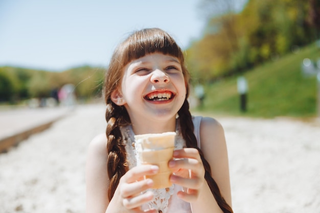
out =
[[[163,53],[179,59],[184,63],[184,57],[173,38],[160,29],[144,29],[132,34],[123,43],[123,63],[144,57],[152,53]]]

